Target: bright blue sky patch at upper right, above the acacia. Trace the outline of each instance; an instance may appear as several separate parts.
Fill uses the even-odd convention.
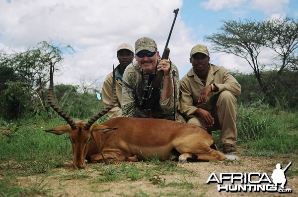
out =
[[[218,32],[222,20],[297,18],[298,0],[183,0],[180,14],[186,26],[192,27],[195,38],[202,40]]]

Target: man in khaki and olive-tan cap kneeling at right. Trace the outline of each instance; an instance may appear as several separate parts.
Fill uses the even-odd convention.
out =
[[[209,63],[206,46],[194,46],[189,60],[192,68],[180,81],[179,111],[187,123],[208,132],[221,130],[223,152],[235,151],[236,98],[241,86],[227,69]]]

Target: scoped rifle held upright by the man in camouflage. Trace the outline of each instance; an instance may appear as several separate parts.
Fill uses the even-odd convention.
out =
[[[175,17],[172,23],[172,27],[168,36],[168,39],[166,41],[161,59],[168,59],[170,54],[170,49],[167,47],[169,44],[169,40],[173,31],[173,27],[178,15],[179,8],[174,9]],[[148,85],[146,86],[144,90],[144,94],[142,97],[142,100],[140,102],[140,108],[146,109],[148,111],[148,117],[152,118],[152,109],[154,108],[154,104],[159,100],[159,90],[160,90],[160,84],[163,78],[163,71],[158,71],[156,69],[156,73],[152,76],[149,76]]]

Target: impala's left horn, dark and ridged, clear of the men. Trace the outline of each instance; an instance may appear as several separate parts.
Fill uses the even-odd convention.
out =
[[[54,66],[53,63],[50,62],[50,87],[48,92],[48,102],[50,106],[56,111],[61,117],[63,117],[67,123],[72,127],[73,130],[77,129],[77,126],[73,119],[67,115],[67,113],[63,110],[61,110],[56,102],[54,101],[54,82],[53,82],[53,73],[54,73]]]

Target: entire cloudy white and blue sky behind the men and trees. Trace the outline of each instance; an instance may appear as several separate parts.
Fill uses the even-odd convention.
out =
[[[191,68],[194,45],[212,51],[203,38],[218,33],[222,20],[298,18],[298,0],[0,0],[0,49],[22,51],[50,40],[69,44],[75,53],[65,56],[64,72],[55,81],[94,84],[100,90],[112,65],[119,63],[118,45],[134,47],[137,39],[151,37],[162,53],[176,8],[168,47],[180,78]],[[260,60],[269,62],[270,54]],[[252,71],[243,59],[223,53],[212,52],[211,63]]]

